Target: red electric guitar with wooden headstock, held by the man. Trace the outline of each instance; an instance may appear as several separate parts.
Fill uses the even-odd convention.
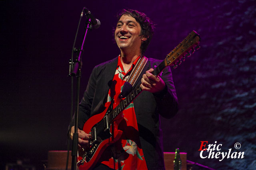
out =
[[[158,75],[167,66],[176,68],[185,57],[189,57],[196,49],[199,49],[200,36],[196,31],[192,31],[177,47],[175,47],[162,63],[155,67],[155,75]],[[128,96],[120,101],[109,102],[106,109],[94,115],[86,121],[83,131],[90,133],[92,138],[90,145],[86,149],[78,151],[79,170],[88,170],[95,166],[104,150],[120,139],[122,131],[118,130],[118,125],[122,121],[121,113],[135,98],[142,92],[140,85],[136,86]],[[114,109],[113,109],[114,108]]]

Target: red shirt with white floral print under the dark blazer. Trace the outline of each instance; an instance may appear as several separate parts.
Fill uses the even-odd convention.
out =
[[[124,82],[126,82],[139,58],[133,62],[127,72],[124,72],[120,56],[118,57],[118,65],[113,78],[114,83],[112,83],[108,92],[107,102],[110,102],[112,98],[114,98],[114,101],[117,101]],[[127,106],[120,114],[124,116],[118,126],[118,129],[122,129],[123,131],[122,136],[119,141],[111,146],[112,157],[108,161],[102,161],[101,163],[116,170],[147,170],[146,161],[140,145],[138,124],[133,103]]]

